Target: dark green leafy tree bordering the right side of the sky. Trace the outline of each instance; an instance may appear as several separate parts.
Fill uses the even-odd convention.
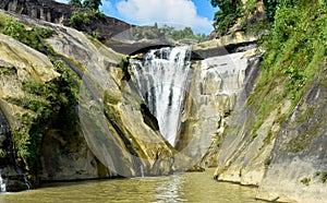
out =
[[[228,28],[234,25],[241,16],[242,2],[240,0],[211,0],[213,7],[219,10],[214,16],[214,27],[218,34],[227,34]]]

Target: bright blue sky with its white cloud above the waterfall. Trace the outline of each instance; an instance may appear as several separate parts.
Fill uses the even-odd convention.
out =
[[[66,3],[69,0],[56,0]],[[217,8],[210,0],[102,0],[106,15],[135,25],[192,27],[194,33],[210,34]]]

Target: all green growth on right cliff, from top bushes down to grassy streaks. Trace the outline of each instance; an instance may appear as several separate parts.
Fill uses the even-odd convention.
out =
[[[271,112],[291,100],[290,114],[307,86],[324,70],[327,47],[327,9],[322,2],[301,1],[292,7],[281,4],[267,36],[264,36],[263,72],[247,105],[257,108],[252,134]],[[310,110],[310,109],[308,109]],[[284,122],[288,115],[278,111],[275,122]],[[293,152],[300,152],[304,140],[296,139]]]

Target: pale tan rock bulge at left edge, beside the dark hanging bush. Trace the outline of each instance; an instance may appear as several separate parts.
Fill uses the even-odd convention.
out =
[[[15,145],[12,131],[21,124],[20,117],[26,110],[8,101],[8,98],[25,96],[22,83],[35,79],[40,83],[59,76],[50,60],[34,49],[0,34],[0,109],[2,141],[1,176],[5,191],[28,189],[26,177],[17,166]]]

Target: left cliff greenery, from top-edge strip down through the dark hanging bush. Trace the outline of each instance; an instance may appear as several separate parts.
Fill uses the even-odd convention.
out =
[[[46,45],[45,39],[55,33],[51,29],[28,26],[8,15],[0,16],[0,32],[16,40],[46,52],[52,60],[53,67],[60,76],[41,83],[37,80],[22,82],[26,93],[24,97],[5,98],[9,103],[25,109],[20,118],[20,126],[13,130],[19,165],[34,175],[43,138],[50,129],[71,131],[77,122],[78,92],[73,81],[72,71],[58,55]],[[3,74],[14,73],[14,69],[3,69]],[[31,176],[29,176],[31,178]]]

